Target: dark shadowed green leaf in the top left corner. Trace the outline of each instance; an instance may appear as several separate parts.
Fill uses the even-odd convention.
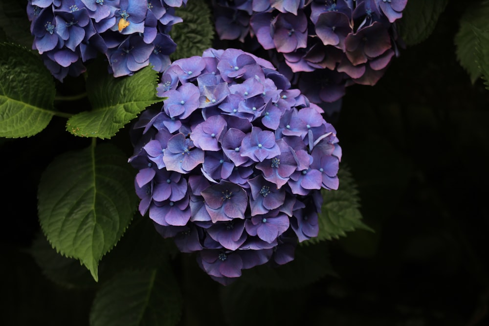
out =
[[[26,0],[1,0],[0,28],[10,42],[31,48],[34,36],[30,32],[26,8]]]

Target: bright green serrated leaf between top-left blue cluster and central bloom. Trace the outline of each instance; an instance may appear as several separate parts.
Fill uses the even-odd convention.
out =
[[[87,93],[92,109],[67,121],[67,130],[75,136],[111,138],[144,108],[163,100],[156,96],[157,72],[151,66],[118,78],[105,71],[99,65],[89,70]]]

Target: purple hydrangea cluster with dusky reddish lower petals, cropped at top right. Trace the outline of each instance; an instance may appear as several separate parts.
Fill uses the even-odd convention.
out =
[[[214,0],[222,40],[256,37],[311,102],[374,85],[398,55],[394,22],[407,0]],[[295,74],[299,73],[300,74]],[[295,75],[294,75],[295,74]],[[294,78],[294,79],[292,79]]]

